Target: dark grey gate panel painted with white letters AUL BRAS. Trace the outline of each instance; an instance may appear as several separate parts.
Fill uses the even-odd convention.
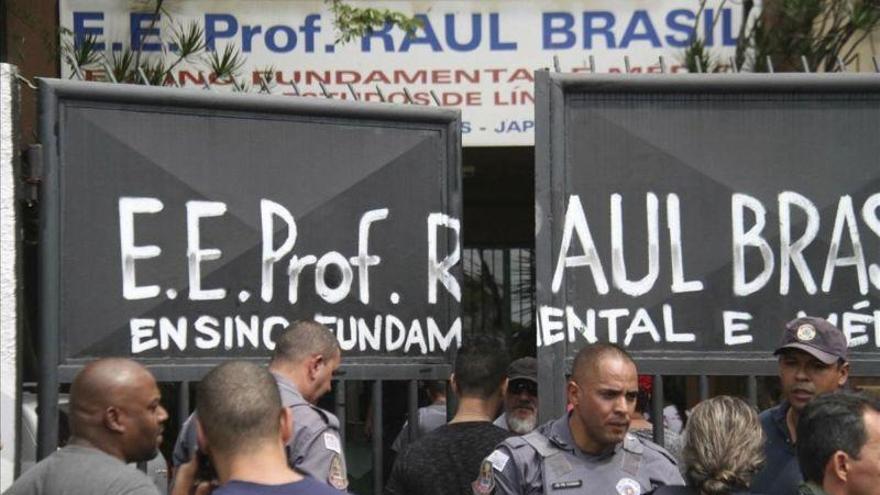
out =
[[[827,318],[880,371],[880,77],[539,73],[538,345],[774,373]],[[548,368],[549,371],[549,368]]]

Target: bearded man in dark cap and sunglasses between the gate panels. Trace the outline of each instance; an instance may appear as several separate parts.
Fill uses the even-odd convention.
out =
[[[525,435],[538,425],[538,360],[524,357],[507,368],[504,412],[495,426]]]

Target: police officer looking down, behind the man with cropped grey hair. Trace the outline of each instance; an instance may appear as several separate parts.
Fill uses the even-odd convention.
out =
[[[281,402],[293,413],[293,438],[287,445],[291,467],[339,490],[348,487],[339,420],[315,403],[330,391],[333,372],[341,362],[339,343],[320,323],[294,323],[275,340],[269,371],[278,384]],[[195,414],[183,424],[174,446],[175,467],[196,450]]]

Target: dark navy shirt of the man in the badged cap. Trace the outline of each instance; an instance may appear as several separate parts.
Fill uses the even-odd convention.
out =
[[[764,467],[752,478],[752,490],[757,493],[796,495],[804,481],[785,422],[789,407],[788,402],[783,402],[759,416],[767,440],[764,442]]]

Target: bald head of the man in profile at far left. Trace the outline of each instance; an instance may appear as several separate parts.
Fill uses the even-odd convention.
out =
[[[73,443],[92,445],[126,462],[156,455],[168,413],[153,375],[130,359],[87,364],[70,387]]]

